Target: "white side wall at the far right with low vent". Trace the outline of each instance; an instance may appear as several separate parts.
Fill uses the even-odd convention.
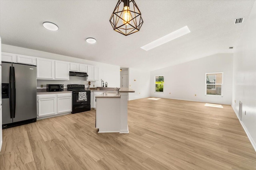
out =
[[[241,124],[256,150],[256,3],[245,21],[240,41],[234,47],[232,107],[238,114],[242,102]]]

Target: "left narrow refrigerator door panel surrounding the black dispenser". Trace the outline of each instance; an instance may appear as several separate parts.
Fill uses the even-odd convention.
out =
[[[10,95],[11,84],[10,83],[10,72],[12,69],[11,63],[2,63],[2,83],[9,85],[9,97],[2,98],[2,124],[12,123],[12,113],[10,112],[10,107],[12,106],[12,97]]]

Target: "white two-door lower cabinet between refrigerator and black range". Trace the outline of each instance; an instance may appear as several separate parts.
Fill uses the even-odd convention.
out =
[[[72,111],[72,93],[38,94],[38,117]]]

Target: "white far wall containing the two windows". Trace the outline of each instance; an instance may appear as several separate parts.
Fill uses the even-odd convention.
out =
[[[232,54],[216,54],[152,71],[150,94],[158,98],[231,104],[232,65]],[[205,96],[205,74],[211,72],[223,72],[223,97]],[[164,93],[155,92],[154,76],[164,76]]]

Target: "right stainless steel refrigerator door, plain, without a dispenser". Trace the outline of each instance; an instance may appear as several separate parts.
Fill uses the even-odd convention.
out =
[[[13,66],[13,122],[36,118],[36,66]]]

